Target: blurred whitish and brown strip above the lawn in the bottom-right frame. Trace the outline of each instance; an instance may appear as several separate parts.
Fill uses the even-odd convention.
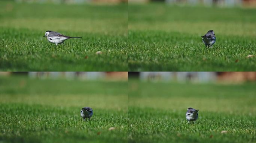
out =
[[[129,72],[129,78],[147,81],[225,82],[256,81],[256,72]]]

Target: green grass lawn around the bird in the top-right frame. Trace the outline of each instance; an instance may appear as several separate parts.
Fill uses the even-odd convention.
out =
[[[128,5],[129,71],[254,71],[256,9]],[[214,30],[205,48],[201,35]]]

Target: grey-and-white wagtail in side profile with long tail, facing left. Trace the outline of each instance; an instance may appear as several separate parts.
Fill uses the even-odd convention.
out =
[[[58,45],[63,43],[66,39],[71,39],[71,38],[82,38],[82,37],[70,37],[66,36],[63,34],[60,34],[59,32],[55,31],[46,31],[45,35],[43,37],[47,36],[48,41]]]

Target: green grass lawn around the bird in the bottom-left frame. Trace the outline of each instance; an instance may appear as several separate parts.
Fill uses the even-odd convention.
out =
[[[127,142],[127,100],[127,82],[0,77],[0,142]]]

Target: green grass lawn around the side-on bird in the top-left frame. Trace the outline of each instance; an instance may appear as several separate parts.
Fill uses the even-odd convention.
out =
[[[0,1],[0,70],[128,71],[127,18],[127,4]],[[56,46],[48,30],[83,38]]]

